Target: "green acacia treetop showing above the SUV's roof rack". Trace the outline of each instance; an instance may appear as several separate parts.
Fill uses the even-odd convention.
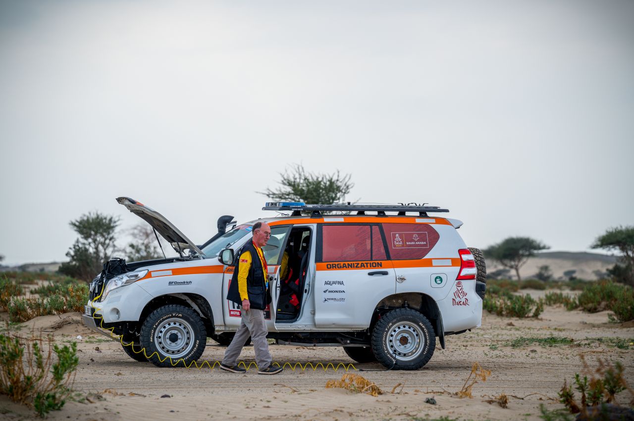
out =
[[[344,201],[354,187],[351,174],[341,175],[339,170],[332,174],[312,173],[301,164],[292,164],[280,177],[280,187],[275,190],[267,187],[259,193],[276,201],[330,204]]]

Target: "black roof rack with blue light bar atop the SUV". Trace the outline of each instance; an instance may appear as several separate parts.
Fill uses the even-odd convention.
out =
[[[356,215],[365,215],[366,212],[377,212],[377,216],[385,217],[385,212],[398,212],[398,215],[405,215],[406,212],[418,212],[420,217],[427,217],[427,212],[448,212],[439,206],[424,206],[415,203],[408,204],[306,204],[303,202],[266,202],[262,210],[273,211],[293,211],[291,216],[299,217],[302,211],[310,212],[312,218],[320,218],[322,211],[342,211],[353,212]]]

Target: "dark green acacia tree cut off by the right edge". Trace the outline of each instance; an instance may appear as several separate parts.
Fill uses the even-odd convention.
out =
[[[634,225],[611,228],[602,236],[598,236],[590,247],[620,251],[623,266],[617,263],[610,272],[618,280],[626,284],[634,284]]]

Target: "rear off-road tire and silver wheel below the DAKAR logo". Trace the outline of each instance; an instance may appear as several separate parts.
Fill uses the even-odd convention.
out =
[[[372,330],[372,351],[385,368],[418,370],[429,362],[434,349],[434,328],[411,308],[388,311]]]

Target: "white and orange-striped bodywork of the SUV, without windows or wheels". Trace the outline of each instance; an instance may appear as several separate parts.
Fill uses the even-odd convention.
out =
[[[460,271],[458,249],[465,243],[456,232],[462,222],[448,220],[451,225],[437,223],[441,218],[417,218],[417,223],[432,226],[439,240],[429,253],[420,259],[420,265],[410,261],[385,260],[380,265],[372,261],[361,267],[327,267],[328,262],[316,262],[316,249],[320,240],[318,223],[297,217],[266,218],[259,221],[275,222],[272,229],[292,222],[292,227],[309,227],[312,231],[301,313],[292,323],[276,320],[276,304],[280,293],[280,267],[269,265],[269,284],[273,303],[268,320],[269,332],[282,331],[350,331],[365,330],[370,326],[375,307],[393,294],[420,293],[433,299],[441,313],[445,332],[458,332],[479,327],[482,299],[475,292],[475,280],[456,281]],[[252,221],[246,225],[252,225]],[[351,223],[352,217],[324,217],[320,223]],[[390,223],[389,218],[385,218]],[[246,235],[231,248],[238,251],[252,236]],[[412,263],[413,262],[413,263]],[[136,268],[147,269],[147,275],[128,286],[114,289],[101,302],[94,305],[103,322],[138,321],[145,306],[154,298],[164,295],[185,297],[197,294],[209,303],[216,332],[235,331],[240,326],[240,309],[226,299],[233,268],[225,267],[216,257],[202,260],[173,261]],[[377,273],[380,272],[380,273]],[[375,273],[374,275],[369,275]],[[198,310],[200,313],[200,310]]]

